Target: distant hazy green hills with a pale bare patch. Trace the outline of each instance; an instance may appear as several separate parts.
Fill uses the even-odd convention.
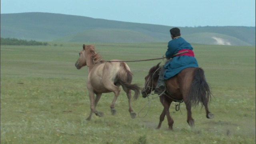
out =
[[[42,12],[1,14],[1,37],[66,42],[168,42],[170,28]],[[256,45],[255,27],[179,27],[188,42],[220,45]]]

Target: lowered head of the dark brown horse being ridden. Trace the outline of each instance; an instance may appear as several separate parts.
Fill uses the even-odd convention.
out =
[[[141,91],[142,97],[146,98],[153,90],[155,90],[156,82],[159,77],[160,63],[150,68],[148,75],[145,77],[145,84]]]

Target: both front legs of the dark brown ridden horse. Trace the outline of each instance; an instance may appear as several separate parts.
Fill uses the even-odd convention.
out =
[[[172,130],[174,120],[171,118],[170,112],[169,112],[169,108],[170,108],[170,105],[172,103],[172,100],[167,99],[164,95],[160,96],[159,98],[160,98],[160,102],[164,106],[164,109],[162,111],[162,114],[160,115],[160,121],[159,121],[159,124],[157,126],[157,129],[159,129],[161,127],[161,124],[164,121],[164,117],[166,116],[167,121],[168,121],[169,129]]]

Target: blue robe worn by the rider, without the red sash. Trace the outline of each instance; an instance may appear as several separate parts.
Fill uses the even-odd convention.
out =
[[[193,50],[191,44],[184,40],[184,38],[174,38],[168,42],[168,49],[165,56],[167,59],[170,59],[174,54],[178,53],[178,51],[182,49]],[[164,65],[164,68],[166,68],[166,71],[164,72],[164,79],[167,80],[178,74],[184,68],[188,67],[198,67],[196,58],[193,56],[175,56]]]

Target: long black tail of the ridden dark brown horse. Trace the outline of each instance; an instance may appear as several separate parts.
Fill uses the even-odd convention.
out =
[[[207,106],[209,100],[211,100],[211,95],[210,86],[204,76],[204,70],[202,68],[196,68],[188,97],[192,106],[198,106],[199,103]]]

